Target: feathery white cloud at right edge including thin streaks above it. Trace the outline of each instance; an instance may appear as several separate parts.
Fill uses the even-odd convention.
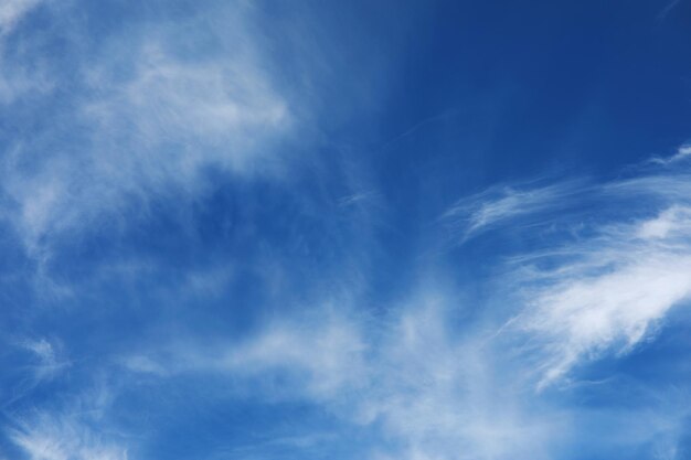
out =
[[[682,147],[666,164],[687,154]],[[525,334],[539,387],[599,356],[630,352],[691,297],[690,179],[681,164],[600,185],[556,183],[488,199],[491,190],[447,213],[468,223],[461,242],[482,228],[559,224],[534,249],[510,257],[503,275],[518,292],[510,301],[523,306],[507,328]]]

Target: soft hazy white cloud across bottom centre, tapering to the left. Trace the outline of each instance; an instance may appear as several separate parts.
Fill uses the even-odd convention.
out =
[[[502,371],[500,354],[483,341],[455,339],[447,301],[422,295],[389,325],[331,313],[269,327],[238,345],[183,343],[124,363],[158,378],[225,374],[266,402],[307,399],[343,421],[382,429],[395,447],[380,458],[551,458],[564,417],[525,407],[521,379]],[[278,388],[270,375],[284,377]]]

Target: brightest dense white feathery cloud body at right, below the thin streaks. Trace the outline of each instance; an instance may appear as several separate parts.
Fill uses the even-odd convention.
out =
[[[691,296],[690,208],[608,224],[564,245],[520,277],[529,307],[519,323],[544,340],[543,384],[583,360],[630,351]],[[544,267],[540,268],[540,265]]]

